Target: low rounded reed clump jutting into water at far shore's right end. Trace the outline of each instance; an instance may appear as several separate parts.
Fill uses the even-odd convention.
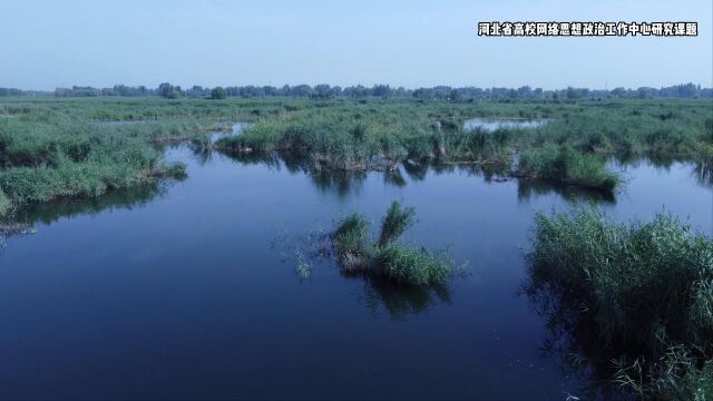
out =
[[[557,146],[524,150],[515,175],[609,192],[621,182],[602,157]]]

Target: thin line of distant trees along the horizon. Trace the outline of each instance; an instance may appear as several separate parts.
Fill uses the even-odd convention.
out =
[[[701,88],[700,85],[682,84],[670,87],[652,88],[641,87],[637,89],[614,88],[611,90],[587,89],[568,87],[560,90],[544,90],[543,88],[530,88],[522,86],[519,88],[477,88],[477,87],[449,87],[437,86],[431,88],[407,89],[403,87],[391,87],[389,85],[374,85],[364,87],[362,85],[330,86],[326,84],[315,85],[285,85],[273,86],[232,86],[204,88],[194,85],[188,89],[163,82],[158,88],[146,88],[145,86],[115,85],[111,88],[78,87],[57,88],[53,92],[26,91],[14,88],[0,88],[0,96],[56,96],[56,97],[100,97],[100,96],[160,96],[168,99],[180,97],[188,98],[213,98],[224,99],[226,97],[256,98],[256,97],[295,97],[295,98],[416,98],[422,100],[450,100],[466,101],[471,99],[553,99],[553,100],[576,100],[587,98],[713,98],[713,89]]]

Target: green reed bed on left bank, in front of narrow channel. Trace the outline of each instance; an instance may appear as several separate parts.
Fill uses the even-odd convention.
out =
[[[94,197],[160,177],[166,166],[150,141],[185,135],[192,124],[98,126],[58,117],[52,123],[0,121],[0,215],[31,202]]]

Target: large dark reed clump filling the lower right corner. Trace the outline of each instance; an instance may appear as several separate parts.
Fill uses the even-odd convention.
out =
[[[525,285],[593,376],[641,399],[713,397],[713,241],[670,215],[539,214]],[[613,363],[616,361],[616,363]]]

